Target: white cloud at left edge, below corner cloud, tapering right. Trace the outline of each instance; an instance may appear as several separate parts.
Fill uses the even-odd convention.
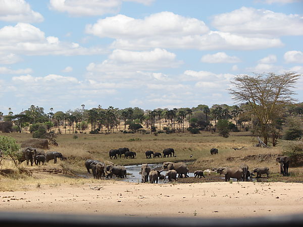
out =
[[[0,51],[26,55],[89,55],[104,52],[100,48],[84,48],[78,43],[61,42],[58,37],[45,37],[39,28],[27,23],[0,29]]]

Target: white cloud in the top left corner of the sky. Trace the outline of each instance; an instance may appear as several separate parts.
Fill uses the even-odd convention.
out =
[[[44,20],[24,0],[0,0],[0,6],[1,21],[35,23]]]

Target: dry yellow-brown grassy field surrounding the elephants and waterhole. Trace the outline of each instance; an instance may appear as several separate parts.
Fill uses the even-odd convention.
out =
[[[5,134],[1,134],[5,135]],[[12,133],[6,134],[17,139],[19,143],[31,138],[28,133]],[[54,164],[52,161],[45,166],[26,166],[23,162],[21,167],[32,172],[29,177],[26,174],[20,174],[17,177],[8,175],[1,177],[2,185],[0,190],[14,190],[20,185],[26,184],[48,184],[56,185],[61,183],[81,184],[84,182],[93,182],[93,179],[77,178],[75,174],[83,175],[86,173],[84,161],[88,158],[98,159],[101,161],[112,161],[115,164],[132,165],[142,163],[162,163],[164,161],[192,161],[189,165],[190,172],[195,169],[207,169],[218,166],[238,166],[241,162],[248,164],[249,169],[257,166],[268,166],[271,169],[272,181],[303,181],[302,168],[290,168],[290,177],[283,178],[279,175],[279,165],[275,163],[275,157],[281,154],[284,147],[287,146],[286,141],[282,141],[275,148],[257,148],[253,145],[257,141],[249,136],[249,133],[232,133],[229,138],[219,137],[218,134],[204,132],[197,135],[191,134],[76,134],[77,138],[71,134],[58,135],[57,141],[59,146],[51,146],[49,150],[59,151],[68,157],[66,161],[59,161]],[[233,148],[240,148],[234,150]],[[118,149],[119,147],[128,147],[131,151],[135,151],[137,156],[135,159],[110,159],[109,150]],[[174,148],[177,157],[169,158],[145,158],[146,150],[161,152],[165,148]],[[218,148],[218,155],[211,155],[210,149]],[[190,158],[190,155],[192,157]],[[3,169],[14,168],[9,160],[4,160]],[[59,169],[56,171],[56,169]],[[203,180],[200,180],[203,181]]]

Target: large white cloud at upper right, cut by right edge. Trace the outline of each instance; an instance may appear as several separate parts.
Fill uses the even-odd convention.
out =
[[[213,25],[220,31],[250,36],[303,35],[302,15],[275,13],[242,7],[213,18]]]

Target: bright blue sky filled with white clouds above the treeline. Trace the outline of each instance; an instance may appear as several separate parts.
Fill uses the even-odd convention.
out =
[[[5,114],[233,105],[269,72],[303,75],[303,0],[0,0]]]

